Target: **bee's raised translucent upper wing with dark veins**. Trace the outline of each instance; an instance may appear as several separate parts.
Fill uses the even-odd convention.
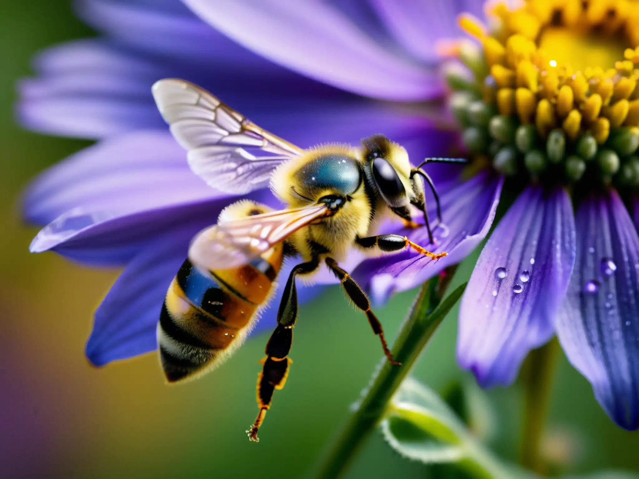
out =
[[[151,91],[171,133],[189,151],[191,169],[217,190],[264,188],[277,165],[302,153],[185,80],[159,80]]]

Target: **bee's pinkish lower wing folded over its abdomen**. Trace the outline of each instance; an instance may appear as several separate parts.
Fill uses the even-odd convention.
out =
[[[330,214],[325,204],[318,204],[221,222],[193,238],[189,259],[208,270],[237,268],[298,229]]]

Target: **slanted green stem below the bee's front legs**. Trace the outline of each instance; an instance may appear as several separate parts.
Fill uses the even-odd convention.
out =
[[[316,478],[335,479],[343,474],[366,437],[380,422],[390,398],[397,391],[399,384],[406,377],[437,326],[446,316],[446,312],[450,310],[449,302],[453,301],[454,304],[463,293],[465,284],[443,301],[441,307],[438,308],[440,314],[437,314],[438,311],[435,309],[442,302],[443,294],[450,283],[455,268],[454,266],[448,268],[445,274],[431,279],[422,286],[392,349],[395,360],[401,362],[402,365],[391,365],[384,358],[357,411],[351,415],[330,446],[325,460],[315,475]]]

